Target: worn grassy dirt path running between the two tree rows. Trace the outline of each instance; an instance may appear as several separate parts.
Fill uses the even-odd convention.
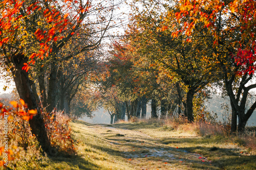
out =
[[[160,139],[142,132],[104,125],[90,129],[102,135],[112,148],[135,169],[219,169],[199,154],[169,147]]]

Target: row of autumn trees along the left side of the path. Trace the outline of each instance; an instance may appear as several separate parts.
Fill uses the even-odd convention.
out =
[[[79,101],[86,78],[100,71],[96,51],[116,26],[114,10],[121,2],[36,0],[0,3],[0,61],[15,82],[28,109],[42,149],[49,150],[41,108],[70,112]],[[73,101],[73,103],[72,103]],[[80,109],[81,103],[77,104]],[[85,111],[88,114],[90,110]],[[79,109],[78,109],[79,110]]]

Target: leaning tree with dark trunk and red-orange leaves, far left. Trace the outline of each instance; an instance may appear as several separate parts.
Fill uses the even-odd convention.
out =
[[[72,2],[72,1],[70,1]],[[54,5],[55,2],[48,1]],[[23,99],[29,109],[37,109],[37,103],[32,91],[33,82],[28,76],[29,49],[34,49],[33,45],[41,41],[41,47],[38,50],[38,57],[46,53],[47,43],[60,39],[54,36],[53,32],[63,29],[68,25],[68,20],[61,18],[61,15],[53,7],[45,6],[44,2],[39,1],[3,1],[0,3],[0,46],[1,60],[5,63],[7,71],[11,71],[14,82],[21,99]],[[51,8],[51,12],[49,12]],[[68,15],[68,14],[67,14]],[[65,16],[67,16],[65,15]],[[40,32],[37,26],[38,17],[44,18],[48,23],[45,32]],[[31,25],[31,23],[36,23]],[[29,23],[29,25],[27,24]],[[39,41],[37,40],[39,39]],[[35,56],[30,56],[33,59]],[[31,62],[33,62],[31,60]],[[32,133],[37,139],[44,151],[49,151],[50,142],[44,126],[44,121],[37,110],[37,115],[29,120]]]

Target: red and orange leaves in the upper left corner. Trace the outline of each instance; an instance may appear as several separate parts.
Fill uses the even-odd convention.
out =
[[[24,65],[23,69],[26,71],[30,67],[29,64],[34,64],[36,59],[44,59],[44,57],[49,56],[49,53],[52,52],[50,47],[52,42],[64,38],[61,33],[72,25],[71,20],[68,19],[70,14],[68,12],[65,13],[65,11],[71,9],[72,3],[78,4],[78,1],[73,0],[46,0],[46,2],[44,4],[44,2],[40,1],[5,0],[0,4],[0,47],[3,48],[5,55],[14,44],[17,45],[15,48],[16,53],[18,51],[22,53],[30,43],[31,38],[35,38],[39,42],[39,49],[30,54],[30,62]],[[60,6],[62,12],[55,8],[59,4],[62,4]],[[80,5],[76,12],[84,13],[89,8],[89,5],[86,7]],[[36,19],[38,16],[40,18]],[[79,14],[72,17],[78,23],[81,22]],[[32,23],[31,18],[34,18]],[[34,27],[30,27],[28,24],[34,24]],[[73,30],[75,30],[75,27],[73,27]],[[74,32],[70,34],[73,35]]]

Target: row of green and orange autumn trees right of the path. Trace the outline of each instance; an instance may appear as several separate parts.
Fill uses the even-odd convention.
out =
[[[256,88],[255,4],[133,1],[124,38],[112,43],[106,63],[110,77],[101,83],[113,100],[107,108],[119,115],[125,103],[128,118],[140,117],[140,110],[144,117],[141,108],[151,100],[151,117],[160,106],[161,118],[167,111],[194,121],[207,114],[206,86],[218,84],[230,98],[231,132],[237,124],[244,131],[256,108],[256,101],[246,107],[249,91]]]

